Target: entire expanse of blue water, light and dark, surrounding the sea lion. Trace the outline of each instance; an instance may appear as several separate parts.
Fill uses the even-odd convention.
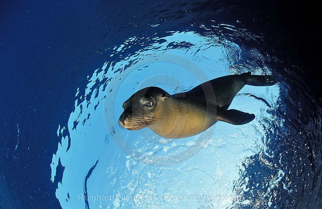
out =
[[[306,5],[2,5],[1,208],[321,208]],[[176,93],[247,71],[278,81],[236,95],[231,108],[256,115],[249,124],[176,140],[117,125],[146,86]]]

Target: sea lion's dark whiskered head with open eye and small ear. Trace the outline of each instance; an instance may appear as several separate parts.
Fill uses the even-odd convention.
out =
[[[128,130],[140,130],[158,122],[160,110],[164,109],[164,101],[171,97],[159,87],[147,87],[135,92],[123,103],[123,113],[118,123]]]

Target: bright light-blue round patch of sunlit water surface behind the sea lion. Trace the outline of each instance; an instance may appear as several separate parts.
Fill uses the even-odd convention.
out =
[[[167,37],[156,37],[155,43],[147,46],[141,39],[141,50],[121,58],[121,61],[112,61],[113,57],[127,54],[125,52],[138,40],[139,37],[133,37],[114,48],[113,56],[89,79],[85,92],[77,92],[75,110],[70,115],[68,127],[60,127],[57,131],[61,135],[60,129],[68,128],[71,141],[70,149],[66,152],[68,138],[62,137],[62,144],[58,145],[56,155],[53,155],[54,164],[51,164],[52,181],[59,158],[65,167],[62,184],[58,185],[56,191],[62,208],[242,208],[254,204],[254,199],[244,195],[253,190],[249,186],[250,178],[244,172],[254,161],[261,161],[269,167],[270,172],[264,177],[267,184],[256,188],[259,191],[256,194],[263,196],[256,201],[262,206],[270,206],[273,196],[278,195],[274,187],[285,178],[286,172],[285,168],[267,161],[270,154],[266,152],[267,134],[263,128],[264,120],[276,118],[274,109],[279,98],[278,85],[245,86],[230,108],[254,113],[255,120],[242,126],[216,123],[199,135],[210,137],[200,152],[171,166],[148,165],[125,154],[127,152],[122,152],[121,145],[117,146],[112,141],[119,139],[115,131],[132,148],[147,156],[169,156],[183,152],[195,143],[198,135],[170,142],[162,139],[151,142],[151,138],[147,140],[145,136],[158,136],[149,129],[128,131],[110,125],[117,123],[123,111],[122,103],[145,87],[142,83],[157,85],[171,94],[189,90],[200,81],[206,81],[207,77],[213,79],[247,71],[266,74],[270,69],[244,68],[238,64],[243,59],[240,55],[243,49],[238,45],[229,41],[223,43],[214,36],[211,39],[203,37],[195,32],[173,32]],[[204,76],[191,74],[183,67],[166,62],[150,62],[125,73],[142,56],[153,57],[160,52],[190,60],[202,70]],[[178,86],[172,82],[156,79],[161,75],[174,78],[182,87],[176,88]],[[119,87],[115,89],[114,86]],[[112,91],[116,92],[115,99],[111,97]],[[108,103],[106,107],[104,102]],[[113,107],[114,112],[111,118],[104,119],[103,112],[108,107]],[[112,122],[106,126],[109,120]],[[282,123],[279,125],[282,126]],[[89,197],[87,200],[84,198],[86,195]]]

